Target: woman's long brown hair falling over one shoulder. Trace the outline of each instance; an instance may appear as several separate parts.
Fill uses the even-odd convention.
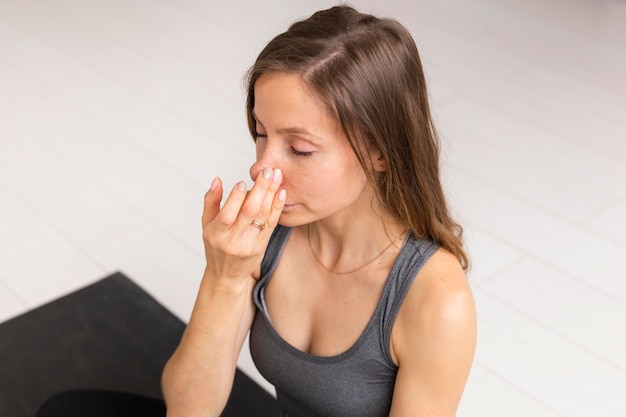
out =
[[[439,173],[439,139],[417,47],[392,19],[337,6],[294,23],[261,51],[247,77],[247,113],[254,136],[254,84],[266,72],[301,74],[335,115],[380,205],[416,236],[453,253],[464,269],[462,227],[450,216]],[[379,150],[386,170],[369,157]]]

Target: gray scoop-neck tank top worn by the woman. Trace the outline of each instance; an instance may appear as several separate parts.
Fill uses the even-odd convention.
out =
[[[282,226],[274,230],[254,289],[258,311],[250,332],[250,352],[256,367],[276,387],[286,416],[387,417],[398,372],[391,359],[391,329],[415,275],[438,246],[409,233],[359,339],[337,356],[320,357],[280,337],[265,305],[265,287],[290,231]]]

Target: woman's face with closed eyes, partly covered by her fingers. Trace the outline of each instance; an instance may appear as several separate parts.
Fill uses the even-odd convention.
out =
[[[365,172],[339,123],[298,74],[262,75],[254,97],[257,160],[250,176],[266,167],[282,170],[287,200],[280,224],[341,220],[371,207]]]

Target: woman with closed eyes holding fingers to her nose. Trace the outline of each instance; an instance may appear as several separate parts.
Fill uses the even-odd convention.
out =
[[[202,216],[207,265],[163,373],[169,416],[218,416],[250,332],[290,417],[453,416],[476,328],[407,30],[342,6],[274,38],[248,77],[251,190]]]

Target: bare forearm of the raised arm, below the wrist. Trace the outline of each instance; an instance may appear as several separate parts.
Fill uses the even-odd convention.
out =
[[[252,278],[205,276],[189,325],[162,378],[168,416],[219,416],[253,317]]]

